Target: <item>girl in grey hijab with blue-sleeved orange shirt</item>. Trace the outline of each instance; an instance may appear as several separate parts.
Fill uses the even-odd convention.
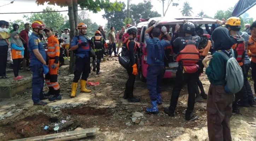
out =
[[[19,38],[19,33],[17,31],[12,32],[11,36],[11,54],[13,61],[13,73],[14,80],[22,79],[23,76],[19,76],[19,65],[24,58],[24,50],[23,43]]]

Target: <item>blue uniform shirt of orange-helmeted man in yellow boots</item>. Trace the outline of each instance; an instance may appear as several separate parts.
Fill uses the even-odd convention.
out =
[[[75,46],[77,44],[80,44],[82,42],[87,42],[87,45],[78,47],[76,56],[79,56],[79,57],[82,57],[82,58],[83,57],[88,57],[89,58],[89,52],[91,50],[91,47],[90,47],[90,43],[89,43],[88,39],[85,38],[84,36],[80,35],[79,36],[79,41],[78,41],[77,36],[74,36],[72,38],[71,43],[70,43],[70,47],[73,47],[73,46]]]

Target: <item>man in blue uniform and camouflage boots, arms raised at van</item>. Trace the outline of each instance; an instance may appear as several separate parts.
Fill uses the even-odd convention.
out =
[[[157,104],[162,104],[161,84],[165,71],[164,48],[171,45],[171,36],[168,34],[165,26],[162,26],[162,32],[168,41],[164,39],[159,41],[161,37],[161,29],[157,27],[159,23],[160,21],[157,21],[145,31],[148,55],[147,64],[149,65],[147,68],[147,89],[149,90],[151,100],[151,108],[147,108],[146,111],[152,114],[157,114],[159,112]],[[150,32],[153,39],[149,36]]]

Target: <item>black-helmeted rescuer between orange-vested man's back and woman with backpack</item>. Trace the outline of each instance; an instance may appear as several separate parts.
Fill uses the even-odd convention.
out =
[[[205,56],[208,55],[208,52],[211,48],[211,41],[204,36],[204,30],[201,27],[196,28],[196,33],[200,37],[200,42],[198,44],[199,59],[202,61]],[[200,74],[204,72],[204,65],[200,63]],[[207,99],[207,94],[204,92],[204,87],[200,79],[197,80],[197,85],[200,88],[201,93],[199,93],[198,87],[196,87],[196,99],[195,102],[202,102],[203,99]]]

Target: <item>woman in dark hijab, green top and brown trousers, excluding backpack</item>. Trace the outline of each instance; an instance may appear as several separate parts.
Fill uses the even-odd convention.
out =
[[[228,94],[224,91],[227,60],[216,52],[223,51],[228,56],[231,55],[233,42],[229,37],[228,29],[225,27],[217,27],[211,36],[214,43],[214,53],[206,56],[203,60],[203,65],[206,68],[205,74],[211,83],[206,106],[209,141],[231,141],[229,121],[234,94]],[[209,60],[208,66],[206,62]]]

